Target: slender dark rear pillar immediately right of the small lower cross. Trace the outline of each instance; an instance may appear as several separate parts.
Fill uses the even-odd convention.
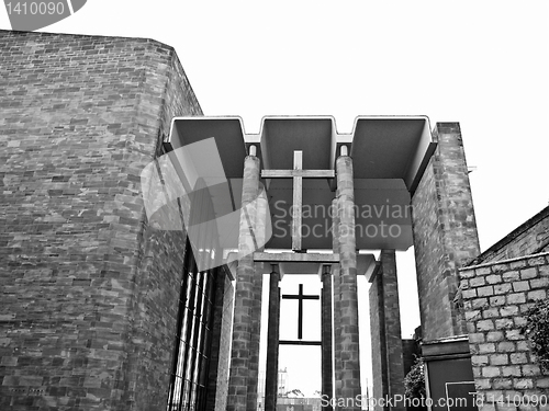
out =
[[[324,265],[322,273],[322,396],[330,400],[334,396],[334,367],[332,346],[332,273],[330,266]],[[324,407],[332,411],[332,406]],[[269,411],[269,410],[267,410]]]

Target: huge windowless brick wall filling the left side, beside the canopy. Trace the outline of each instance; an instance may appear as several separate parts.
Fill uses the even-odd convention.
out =
[[[160,410],[184,241],[139,173],[200,106],[158,42],[0,36],[0,409]]]

